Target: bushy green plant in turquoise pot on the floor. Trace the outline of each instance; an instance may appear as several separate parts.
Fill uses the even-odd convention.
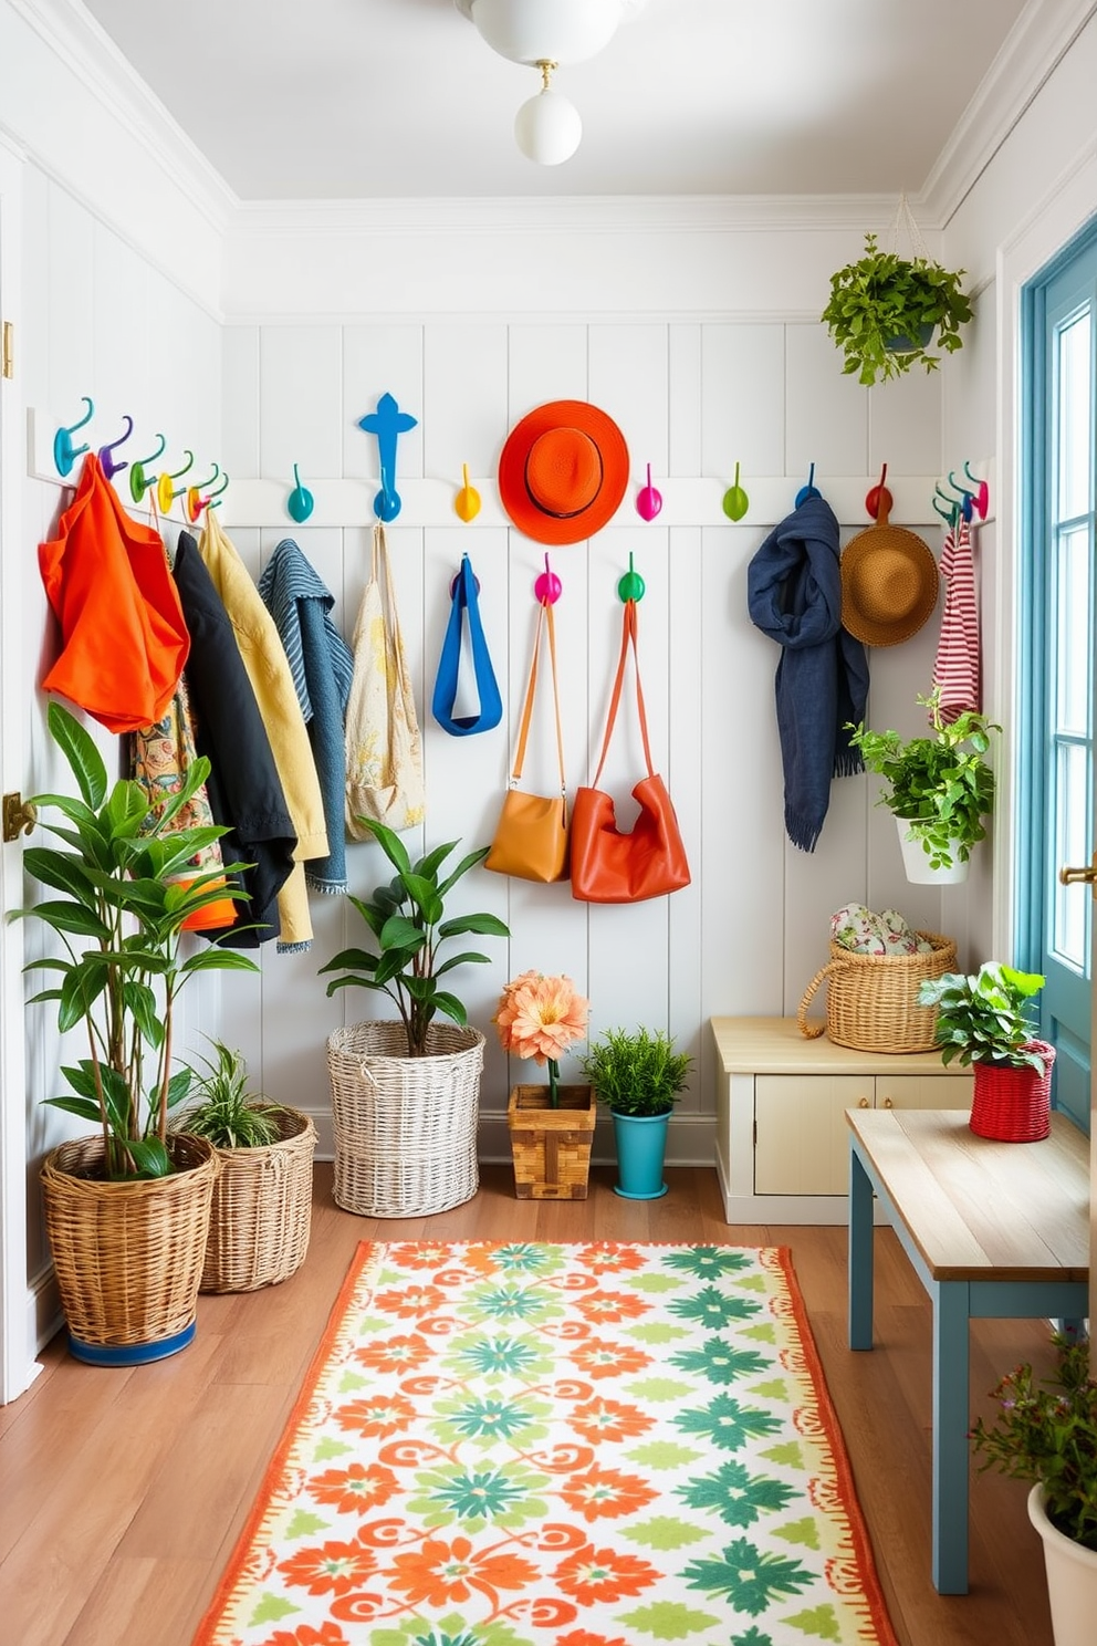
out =
[[[613,1193],[625,1200],[658,1200],[666,1193],[666,1132],[691,1065],[692,1057],[676,1052],[663,1029],[632,1034],[607,1029],[582,1058],[595,1098],[613,1118],[618,1175]]]

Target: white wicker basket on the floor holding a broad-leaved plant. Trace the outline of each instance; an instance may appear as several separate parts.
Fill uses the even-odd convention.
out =
[[[365,1022],[327,1039],[336,1205],[367,1218],[416,1218],[480,1187],[477,1119],[484,1035],[431,1024],[408,1057],[403,1024]]]

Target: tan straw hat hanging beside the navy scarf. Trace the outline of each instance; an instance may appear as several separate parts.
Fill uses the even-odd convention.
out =
[[[842,550],[842,627],[865,645],[898,645],[937,604],[941,578],[929,543],[886,514]]]

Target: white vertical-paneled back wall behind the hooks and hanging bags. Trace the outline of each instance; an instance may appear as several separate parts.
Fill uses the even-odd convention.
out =
[[[454,986],[488,1037],[485,1155],[508,1152],[502,1116],[510,1085],[541,1078],[526,1065],[507,1067],[490,1027],[503,983],[536,968],[566,971],[589,994],[592,1032],[618,1024],[666,1027],[692,1052],[694,1078],[674,1116],[671,1155],[709,1160],[711,1016],[794,1012],[827,958],[829,915],[850,899],[896,905],[934,930],[956,927],[962,915],[962,894],[905,882],[890,816],[872,807],[863,777],[834,785],[812,856],[785,839],[773,711],[778,649],[747,614],[748,561],[793,509],[811,463],[824,495],[827,476],[845,477],[845,535],[868,523],[860,499],[878,479],[880,463],[900,484],[903,476],[939,471],[937,382],[908,379],[865,392],[842,375],[822,328],[799,318],[493,324],[477,316],[363,324],[355,316],[345,326],[229,324],[224,451],[238,486],[225,499],[225,525],[257,576],[276,542],[294,537],[336,596],[347,637],[368,570],[378,484],[377,441],[357,420],[385,392],[418,418],[400,438],[396,487],[405,509],[388,527],[424,732],[428,816],[410,838],[413,851],[442,839],[461,839],[462,849],[487,844],[510,769],[544,548],[508,528],[498,507],[493,476],[508,430],[543,402],[579,398],[602,407],[625,433],[632,479],[622,509],[590,542],[551,550],[564,586],[556,621],[567,780],[574,790],[594,775],[620,644],[617,583],[633,555],[646,583],[640,655],[653,756],[678,808],[692,886],[669,899],[595,907],[577,904],[566,884],[543,887],[475,871],[454,905],[498,914],[511,938],[485,940],[490,963],[464,969]],[[285,515],[294,461],[322,525],[294,527]],[[737,461],[747,492],[755,484],[763,502],[734,525],[719,499]],[[676,499],[651,523],[635,512],[648,463],[653,482]],[[484,494],[482,514],[467,525],[452,512],[462,464]],[[674,482],[689,481],[692,489],[681,484],[674,492]],[[702,481],[707,491],[697,489]],[[929,491],[921,520],[936,525]],[[905,518],[918,527],[918,502]],[[921,528],[936,548],[939,532]],[[462,553],[482,584],[505,718],[495,731],[454,737],[433,719],[429,701]],[[872,655],[873,724],[916,729],[914,695],[929,686],[934,644],[936,622],[908,645]],[[526,787],[544,792],[554,785],[548,708],[543,690],[525,772]],[[627,709],[604,774],[625,823],[635,811],[630,788],[641,775],[640,760],[635,714]],[[388,877],[373,844],[350,844],[347,853],[354,890]],[[230,1032],[242,1044],[271,1098],[312,1109],[327,1142],[326,1035],[344,1019],[388,1016],[390,1007],[357,991],[326,999],[319,966],[363,933],[342,900],[312,897],[312,915],[311,953],[265,948],[262,979],[211,979],[201,1016],[207,1032]],[[564,1073],[576,1075],[574,1053]]]

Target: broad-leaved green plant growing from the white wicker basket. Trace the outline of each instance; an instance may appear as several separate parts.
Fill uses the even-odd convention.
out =
[[[396,1006],[408,1035],[408,1057],[428,1053],[428,1029],[436,1016],[467,1024],[464,1004],[456,994],[439,988],[439,978],[464,965],[487,965],[488,956],[464,950],[441,958],[442,943],[454,937],[510,937],[510,928],[497,915],[456,915],[446,920],[446,897],[457,881],[488,854],[488,846],[469,853],[442,877],[442,864],[457,841],[436,846],[413,863],[408,848],[393,830],[372,818],[359,818],[368,828],[396,874],[377,886],[368,899],[350,897],[368,927],[377,953],[344,948],[326,966],[326,973],[342,973],[327,984],[336,989],[378,989]]]

